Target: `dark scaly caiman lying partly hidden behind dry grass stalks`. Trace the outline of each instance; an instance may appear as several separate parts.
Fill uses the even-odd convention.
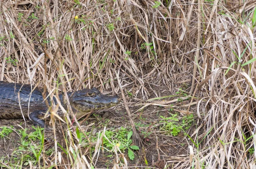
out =
[[[32,87],[34,89],[34,87]],[[46,93],[48,95],[48,93]],[[82,117],[84,114],[93,109],[104,109],[115,106],[119,103],[119,96],[103,95],[98,89],[83,89],[76,92],[67,92],[70,100],[70,105],[76,118]],[[59,94],[61,104],[63,102],[62,94]],[[55,99],[53,99],[54,101]],[[49,97],[48,103],[51,103]],[[54,101],[56,103],[56,100]],[[0,81],[0,118],[12,119],[22,118],[22,113],[25,118],[32,120],[35,125],[41,126],[50,130],[45,126],[45,121],[41,119],[45,115],[49,106],[46,105],[42,90],[35,88],[31,93],[30,85],[20,83],[8,83]],[[63,116],[61,110],[58,110],[58,115]]]

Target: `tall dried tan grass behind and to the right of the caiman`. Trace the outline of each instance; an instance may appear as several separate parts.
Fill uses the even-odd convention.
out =
[[[120,93],[120,78],[137,103],[189,83],[202,142],[167,163],[256,168],[256,3],[241,2],[3,0],[0,80]]]

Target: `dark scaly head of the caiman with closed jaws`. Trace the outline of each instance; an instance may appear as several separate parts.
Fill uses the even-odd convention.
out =
[[[120,102],[119,96],[107,96],[98,89],[83,89],[75,92],[70,98],[72,107],[79,112],[90,112],[92,109],[105,109]]]

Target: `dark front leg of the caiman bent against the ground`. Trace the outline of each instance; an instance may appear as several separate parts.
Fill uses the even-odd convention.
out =
[[[52,128],[47,126],[45,124],[45,121],[42,120],[40,117],[44,117],[45,113],[40,111],[40,110],[37,110],[37,111],[34,111],[32,113],[29,114],[29,118],[32,120],[32,122],[35,124],[35,125],[38,125],[48,131],[51,131]]]

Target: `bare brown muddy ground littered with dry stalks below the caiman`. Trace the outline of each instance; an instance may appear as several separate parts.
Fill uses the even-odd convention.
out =
[[[172,136],[160,131],[163,125],[160,121],[160,116],[170,117],[171,114],[177,113],[178,118],[182,118],[184,114],[172,111],[170,112],[169,107],[160,106],[148,106],[143,111],[137,111],[140,106],[133,106],[135,102],[129,100],[129,109],[132,113],[132,118],[134,123],[140,123],[137,126],[137,132],[141,137],[143,147],[140,147],[140,151],[135,151],[135,159],[130,160],[127,155],[127,150],[124,152],[125,158],[128,160],[128,166],[145,166],[145,167],[156,167],[163,169],[167,166],[173,166],[177,164],[175,157],[182,156],[185,159],[189,159],[189,149],[188,146],[191,145],[189,137],[184,135],[184,132],[180,132],[177,136]],[[134,100],[135,101],[135,100]],[[189,103],[189,100],[184,101],[182,104]],[[137,111],[137,112],[136,112]],[[136,112],[136,113],[134,113]],[[185,115],[186,116],[186,115]],[[125,107],[123,103],[118,106],[113,107],[103,112],[96,112],[91,115],[86,121],[82,122],[80,120],[80,125],[86,128],[86,131],[95,130],[94,132],[99,132],[104,129],[117,129],[121,126],[128,127],[131,129],[130,121],[128,115],[126,114]],[[81,123],[82,122],[82,123]],[[186,130],[188,135],[191,135],[196,129],[197,120],[193,120],[193,123]],[[23,119],[12,119],[12,120],[0,120],[0,126],[13,126],[17,131],[25,128],[25,123]],[[64,123],[57,122],[56,138],[57,142],[65,149],[66,144],[64,140],[63,128]],[[89,126],[89,127],[86,127]],[[95,127],[97,126],[97,127]],[[26,128],[28,129],[26,133],[34,132],[35,129],[32,128],[32,123],[27,121]],[[53,132],[45,132],[44,148],[50,149],[55,145]],[[24,140],[24,139],[23,139]],[[26,138],[25,138],[26,140]],[[0,157],[5,159],[6,164],[12,163],[12,160],[17,156],[15,150],[21,145],[21,136],[17,132],[12,132],[10,135],[2,137],[0,139]],[[68,157],[61,148],[58,147],[58,151],[62,152],[63,164],[67,165],[69,163]],[[84,152],[83,152],[84,151]],[[86,155],[88,158],[91,157],[91,152],[88,152],[87,148],[81,150],[81,154]],[[104,154],[103,154],[104,153]],[[100,152],[99,158],[96,163],[97,168],[108,168],[112,167],[116,162],[115,155],[111,155],[106,151]],[[32,153],[30,154],[32,155]],[[54,157],[54,152],[47,156],[49,159]],[[9,159],[9,160],[7,160]],[[65,161],[66,160],[66,161]],[[146,162],[147,161],[147,162]],[[4,161],[2,161],[3,163]],[[171,167],[172,168],[172,167]]]

